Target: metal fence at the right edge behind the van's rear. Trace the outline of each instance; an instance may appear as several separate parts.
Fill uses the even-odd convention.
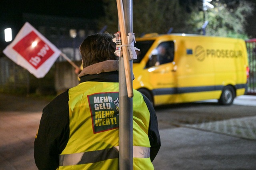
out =
[[[248,95],[256,95],[256,38],[246,41],[249,63]]]

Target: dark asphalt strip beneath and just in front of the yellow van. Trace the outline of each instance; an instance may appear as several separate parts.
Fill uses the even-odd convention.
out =
[[[206,101],[156,107],[155,110],[160,129],[176,128],[182,125],[256,116],[256,101],[255,106],[222,106],[216,101]]]

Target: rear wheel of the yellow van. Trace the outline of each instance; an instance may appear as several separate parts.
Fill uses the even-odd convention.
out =
[[[222,94],[219,99],[221,105],[232,105],[235,98],[235,90],[231,85],[224,87]]]

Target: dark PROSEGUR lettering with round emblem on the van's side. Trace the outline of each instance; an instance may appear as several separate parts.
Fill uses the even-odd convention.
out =
[[[233,49],[204,49],[201,45],[195,48],[195,57],[198,61],[204,61],[205,58],[238,58],[242,57],[242,50]]]

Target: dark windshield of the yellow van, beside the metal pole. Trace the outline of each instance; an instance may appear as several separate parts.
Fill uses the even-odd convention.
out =
[[[143,59],[143,57],[145,56],[145,54],[147,53],[148,49],[151,47],[153,42],[154,42],[154,40],[140,41],[140,42],[136,42],[134,44],[134,46],[136,48],[140,49],[140,51],[135,50],[137,53],[137,59],[132,60],[133,63],[140,63],[140,61]]]

